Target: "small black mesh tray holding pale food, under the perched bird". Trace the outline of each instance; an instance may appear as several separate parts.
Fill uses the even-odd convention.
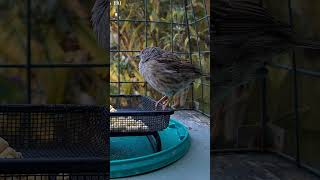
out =
[[[110,132],[112,134],[145,134],[168,127],[173,110],[155,107],[156,102],[141,95],[110,97]],[[156,109],[156,110],[155,110]]]

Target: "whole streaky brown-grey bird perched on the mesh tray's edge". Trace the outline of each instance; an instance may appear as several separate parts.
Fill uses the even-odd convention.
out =
[[[155,103],[156,108],[162,103],[164,110],[174,95],[186,90],[202,76],[200,69],[194,64],[182,61],[175,53],[159,47],[144,48],[136,57],[140,59],[139,72],[145,81],[163,94]]]

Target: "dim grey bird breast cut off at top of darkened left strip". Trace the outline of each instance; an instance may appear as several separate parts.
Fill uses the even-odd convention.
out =
[[[96,0],[92,8],[91,22],[99,45],[109,48],[109,0]]]

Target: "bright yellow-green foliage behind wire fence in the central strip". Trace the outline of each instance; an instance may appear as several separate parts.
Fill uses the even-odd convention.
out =
[[[110,93],[162,96],[139,74],[145,47],[173,51],[210,75],[209,0],[121,0],[110,7]],[[175,97],[183,109],[210,114],[210,82],[202,79]]]

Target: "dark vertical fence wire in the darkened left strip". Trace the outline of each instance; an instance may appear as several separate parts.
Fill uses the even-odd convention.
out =
[[[31,0],[27,0],[27,100],[31,100]]]

